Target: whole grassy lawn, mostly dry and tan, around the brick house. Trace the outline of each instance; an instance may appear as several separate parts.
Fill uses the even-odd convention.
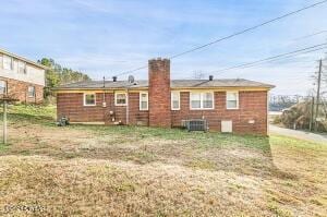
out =
[[[53,118],[53,107],[10,108],[0,216],[327,214],[325,144]]]

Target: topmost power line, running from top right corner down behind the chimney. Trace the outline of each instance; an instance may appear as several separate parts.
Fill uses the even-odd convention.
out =
[[[198,47],[194,47],[194,48],[192,48],[192,49],[190,49],[190,50],[186,50],[186,51],[183,51],[183,52],[180,52],[180,53],[175,53],[175,55],[171,56],[169,59],[175,59],[175,58],[181,57],[181,56],[184,56],[184,55],[186,55],[186,53],[194,52],[194,51],[196,51],[196,50],[201,50],[201,49],[203,49],[203,48],[209,47],[209,46],[215,45],[215,44],[217,44],[217,43],[220,43],[220,41],[222,41],[222,40],[227,40],[227,39],[230,39],[230,38],[232,38],[232,37],[242,35],[242,34],[244,34],[244,33],[254,31],[254,29],[259,28],[259,27],[262,27],[262,26],[268,25],[268,24],[270,24],[270,23],[275,23],[275,22],[277,22],[277,21],[281,20],[281,19],[284,19],[284,17],[288,17],[288,16],[298,14],[298,13],[300,13],[300,12],[302,12],[302,11],[305,11],[305,10],[308,10],[308,9],[312,9],[312,8],[315,8],[315,7],[320,5],[320,4],[324,4],[324,3],[326,3],[326,2],[327,2],[327,0],[324,0],[324,1],[316,2],[316,3],[314,3],[314,4],[310,4],[310,5],[304,7],[304,8],[302,8],[302,9],[299,9],[299,10],[295,10],[295,11],[292,11],[292,12],[289,12],[289,13],[286,13],[286,14],[283,14],[283,15],[281,15],[281,16],[278,16],[278,17],[271,19],[271,20],[269,20],[269,21],[266,21],[266,22],[264,22],[264,23],[261,23],[261,24],[258,24],[258,25],[252,26],[252,27],[250,27],[250,28],[245,28],[245,29],[243,29],[243,31],[233,33],[233,34],[231,34],[231,35],[229,35],[229,36],[226,36],[226,37],[216,39],[216,40],[214,40],[214,41],[211,41],[211,43],[208,43],[208,44],[205,44],[205,45],[202,45],[202,46],[198,46]],[[121,72],[121,73],[119,73],[119,74],[117,74],[117,75],[114,75],[114,76],[121,76],[121,75],[124,75],[124,74],[134,73],[134,72],[136,72],[136,71],[138,71],[138,70],[143,70],[143,69],[146,69],[146,68],[147,68],[147,65],[143,65],[143,67],[140,67],[140,68],[136,68],[136,69],[132,69],[132,70],[129,70],[129,71]]]

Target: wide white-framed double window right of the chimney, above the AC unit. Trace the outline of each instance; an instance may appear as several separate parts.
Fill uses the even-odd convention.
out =
[[[191,109],[214,109],[214,93],[191,93]]]

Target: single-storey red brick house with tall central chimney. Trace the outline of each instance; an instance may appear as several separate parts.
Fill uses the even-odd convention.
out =
[[[170,60],[149,60],[149,81],[81,82],[60,86],[58,119],[71,122],[181,126],[206,119],[209,130],[267,134],[272,85],[247,80],[172,80]]]

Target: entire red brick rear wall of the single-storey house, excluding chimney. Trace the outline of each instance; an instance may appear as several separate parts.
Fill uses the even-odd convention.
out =
[[[170,92],[169,92],[170,93]],[[58,118],[66,116],[72,122],[106,122],[112,124],[109,111],[114,112],[116,121],[126,123],[126,107],[114,106],[113,94],[106,94],[107,107],[102,107],[102,93],[96,94],[96,106],[83,106],[83,94],[58,94]],[[233,132],[249,134],[267,134],[267,92],[240,92],[240,109],[226,109],[226,93],[215,92],[214,110],[190,110],[190,93],[181,92],[181,109],[170,111],[172,126],[180,126],[182,120],[201,119],[208,120],[213,131],[220,131],[221,120],[232,120]],[[149,125],[149,111],[140,111],[140,94],[129,95],[129,123],[138,125]],[[167,112],[165,111],[167,114]],[[160,114],[158,114],[160,116]],[[254,120],[255,123],[249,123]],[[168,125],[165,125],[168,126]]]

